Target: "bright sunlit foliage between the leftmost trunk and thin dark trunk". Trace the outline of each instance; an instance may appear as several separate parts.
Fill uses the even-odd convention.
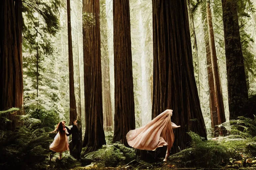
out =
[[[61,0],[23,1],[23,74],[25,108],[63,113],[59,104],[60,76],[55,73],[52,36],[60,29]]]

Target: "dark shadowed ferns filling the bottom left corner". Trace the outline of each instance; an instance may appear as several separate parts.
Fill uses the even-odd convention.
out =
[[[25,126],[16,131],[0,131],[1,169],[46,168],[52,139],[44,129],[32,130]]]

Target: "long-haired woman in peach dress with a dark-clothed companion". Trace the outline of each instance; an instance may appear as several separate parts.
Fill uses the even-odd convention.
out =
[[[50,133],[54,133],[54,132],[58,131],[58,133],[54,137],[53,142],[50,145],[50,149],[52,151],[60,153],[59,159],[62,158],[62,152],[69,150],[68,138],[66,136],[66,130],[67,129],[65,128],[65,121],[62,121],[57,125],[57,128],[54,131],[50,132]]]

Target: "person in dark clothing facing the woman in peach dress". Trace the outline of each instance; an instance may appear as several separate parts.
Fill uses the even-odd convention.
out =
[[[66,127],[66,129],[68,131],[68,134],[66,134],[67,136],[72,134],[72,144],[70,146],[72,148],[70,148],[70,154],[74,158],[79,159],[80,154],[79,154],[78,148],[79,148],[79,141],[80,141],[80,133],[77,126],[77,120],[72,121],[71,129],[69,129],[68,127]],[[76,149],[74,150],[75,146],[76,146]]]

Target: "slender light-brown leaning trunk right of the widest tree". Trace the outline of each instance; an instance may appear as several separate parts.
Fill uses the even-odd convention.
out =
[[[210,106],[215,107],[212,108],[211,111],[211,121],[212,121],[212,128],[216,129],[216,125],[220,125],[226,121],[225,119],[225,110],[222,98],[222,91],[221,91],[221,84],[220,84],[220,76],[218,71],[218,63],[217,63],[217,54],[215,49],[215,42],[214,42],[214,32],[213,32],[213,25],[212,25],[212,13],[210,9],[210,3],[206,2],[206,13],[207,13],[207,23],[208,23],[208,38],[209,38],[209,46],[210,46],[210,55],[207,54],[207,65],[211,65],[208,67],[211,69],[210,73],[212,73],[213,81],[209,81],[209,86],[214,86],[214,89],[210,87],[210,93],[214,93],[214,98],[211,100],[213,102],[210,103]],[[207,52],[206,52],[207,53]],[[210,57],[210,58],[209,58]],[[209,72],[209,71],[208,71]],[[212,78],[210,78],[212,79]]]

